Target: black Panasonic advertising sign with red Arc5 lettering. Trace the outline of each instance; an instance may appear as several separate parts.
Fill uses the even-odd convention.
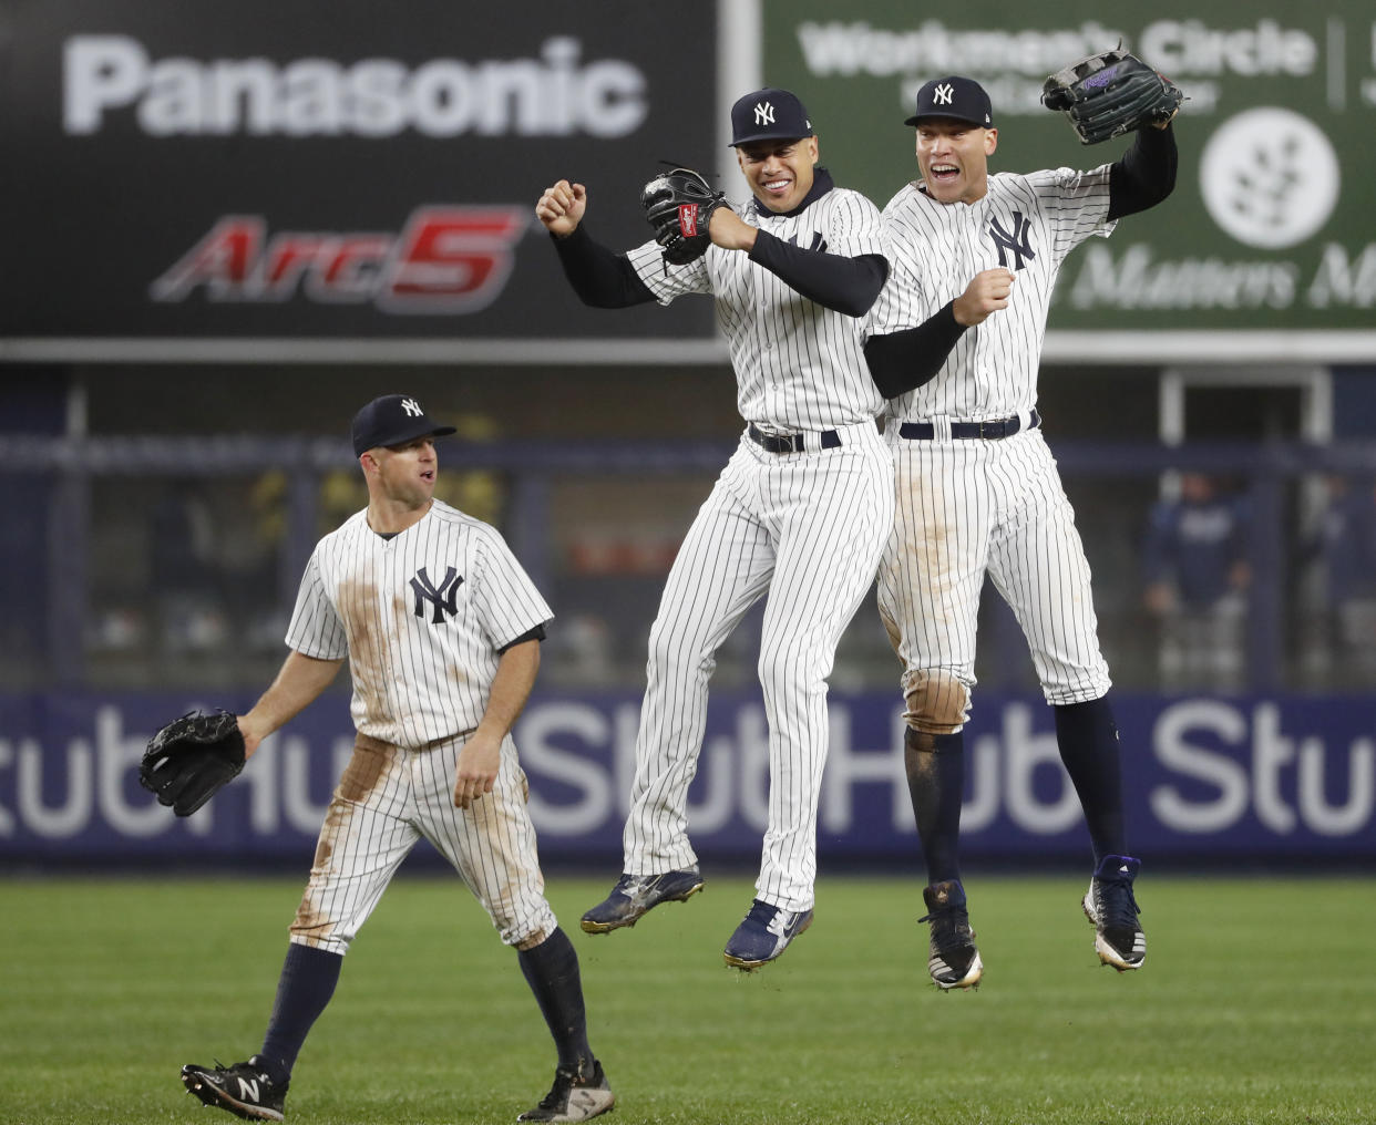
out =
[[[630,4],[52,0],[0,11],[0,61],[11,345],[713,336],[709,301],[583,308],[534,215],[582,182],[589,228],[625,249],[660,160],[716,166],[710,26]]]

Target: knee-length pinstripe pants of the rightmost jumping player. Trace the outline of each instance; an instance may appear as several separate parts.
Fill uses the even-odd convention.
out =
[[[1039,429],[1003,440],[905,440],[894,447],[899,505],[879,567],[879,613],[912,693],[933,670],[974,688],[974,633],[988,572],[1032,651],[1047,703],[1110,686],[1075,513]],[[959,710],[959,708],[958,708]],[[963,725],[969,715],[966,701]]]

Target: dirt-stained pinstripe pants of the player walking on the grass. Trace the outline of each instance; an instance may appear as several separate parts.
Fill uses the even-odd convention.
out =
[[[502,741],[493,791],[455,809],[461,743],[403,750],[358,736],[325,814],[293,942],[343,954],[421,838],[458,871],[506,945],[528,948],[555,931],[516,744]]]

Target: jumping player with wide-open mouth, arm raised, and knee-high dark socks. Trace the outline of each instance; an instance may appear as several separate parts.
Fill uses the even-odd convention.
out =
[[[1090,235],[1108,235],[1117,219],[1170,194],[1175,139],[1167,121],[1138,131],[1112,165],[991,175],[989,98],[955,76],[923,85],[905,124],[916,128],[921,179],[883,210],[893,270],[871,319],[885,337],[867,355],[877,369],[892,367],[894,341],[923,318],[944,316],[954,341],[930,381],[889,403],[885,426],[899,503],[879,609],[904,666],[904,756],[930,880],[929,971],[943,989],[970,987],[982,972],[958,844],[985,572],[1026,635],[1084,807],[1095,868],[1083,908],[1095,950],[1105,964],[1135,970],[1146,938],[1132,893],[1139,861],[1126,854],[1123,835],[1109,673],[1090,568],[1042,437],[1036,377],[1061,263]]]

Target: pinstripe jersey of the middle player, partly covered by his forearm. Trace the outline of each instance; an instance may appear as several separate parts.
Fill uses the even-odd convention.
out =
[[[886,254],[879,212],[864,195],[832,187],[797,213],[736,208],[750,226],[804,249],[841,257]],[[739,250],[710,246],[688,265],[666,265],[658,243],[626,256],[660,304],[711,293],[736,371],[736,407],[766,429],[819,430],[872,419],[883,397],[864,362],[863,318],[801,296]]]

